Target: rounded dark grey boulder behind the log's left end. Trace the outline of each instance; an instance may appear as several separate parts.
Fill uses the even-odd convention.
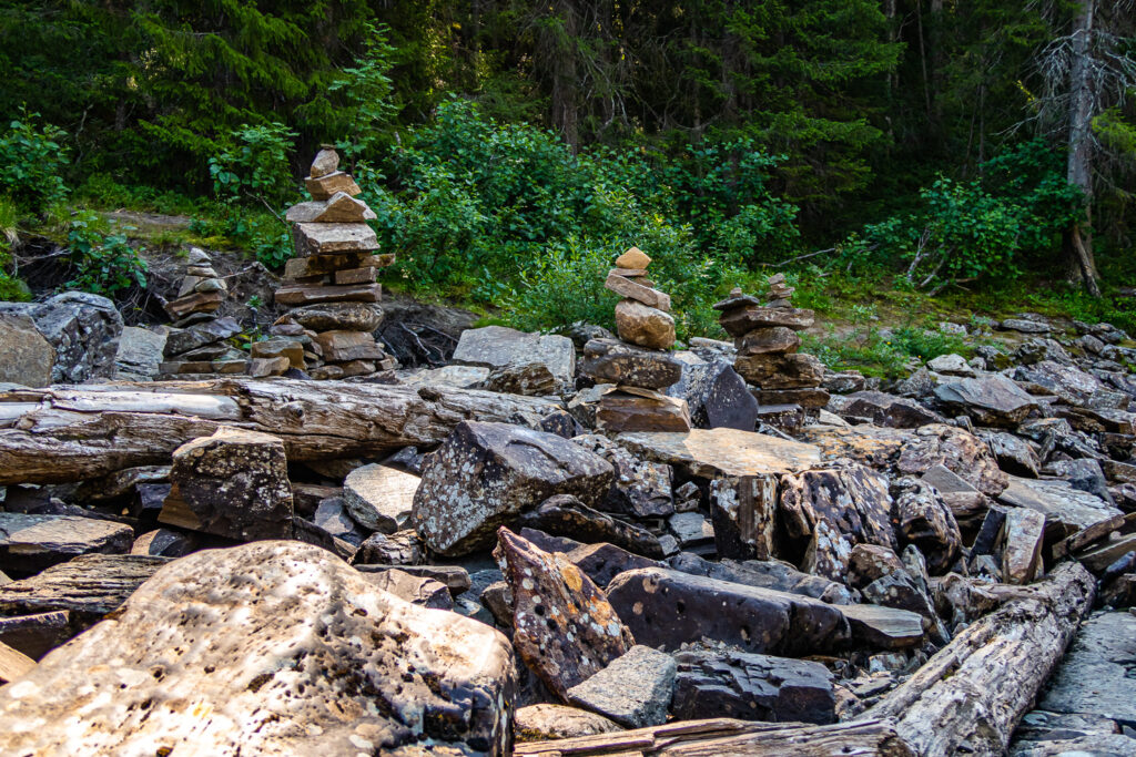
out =
[[[84,292],[65,292],[42,303],[0,302],[2,316],[30,318],[55,348],[50,384],[82,384],[114,377],[123,317],[110,300]],[[25,319],[5,319],[0,321],[0,335],[6,335],[9,328],[15,329],[8,326],[12,322],[19,325],[22,333],[27,328]],[[26,342],[27,337],[22,339]],[[6,342],[0,336],[0,345]],[[30,348],[25,344],[25,351]],[[11,353],[6,351],[5,354],[10,361]],[[42,365],[42,345],[35,343],[35,348],[26,354],[34,355],[36,364]]]

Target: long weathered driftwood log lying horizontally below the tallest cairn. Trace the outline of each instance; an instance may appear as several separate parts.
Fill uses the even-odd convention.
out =
[[[0,485],[78,481],[167,463],[229,424],[284,440],[290,461],[441,441],[463,420],[535,424],[554,399],[453,387],[218,379],[0,392]]]

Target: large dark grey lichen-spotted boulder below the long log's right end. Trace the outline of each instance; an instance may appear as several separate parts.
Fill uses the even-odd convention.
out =
[[[462,421],[423,466],[412,521],[435,552],[469,554],[556,494],[594,507],[613,480],[611,463],[554,434]]]

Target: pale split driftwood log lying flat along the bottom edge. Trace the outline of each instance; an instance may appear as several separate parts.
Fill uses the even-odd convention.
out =
[[[557,741],[518,743],[513,754],[540,757],[642,755],[662,757],[827,757],[878,755],[914,757],[887,721],[857,721],[835,725],[753,723],[735,720],[679,721],[657,727],[598,733]]]

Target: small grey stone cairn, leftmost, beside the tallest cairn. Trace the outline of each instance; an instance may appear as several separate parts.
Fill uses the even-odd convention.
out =
[[[248,370],[249,355],[226,342],[241,333],[241,325],[216,316],[226,292],[209,254],[200,247],[190,247],[177,297],[166,303],[174,323],[166,335],[161,375],[186,379]]]

